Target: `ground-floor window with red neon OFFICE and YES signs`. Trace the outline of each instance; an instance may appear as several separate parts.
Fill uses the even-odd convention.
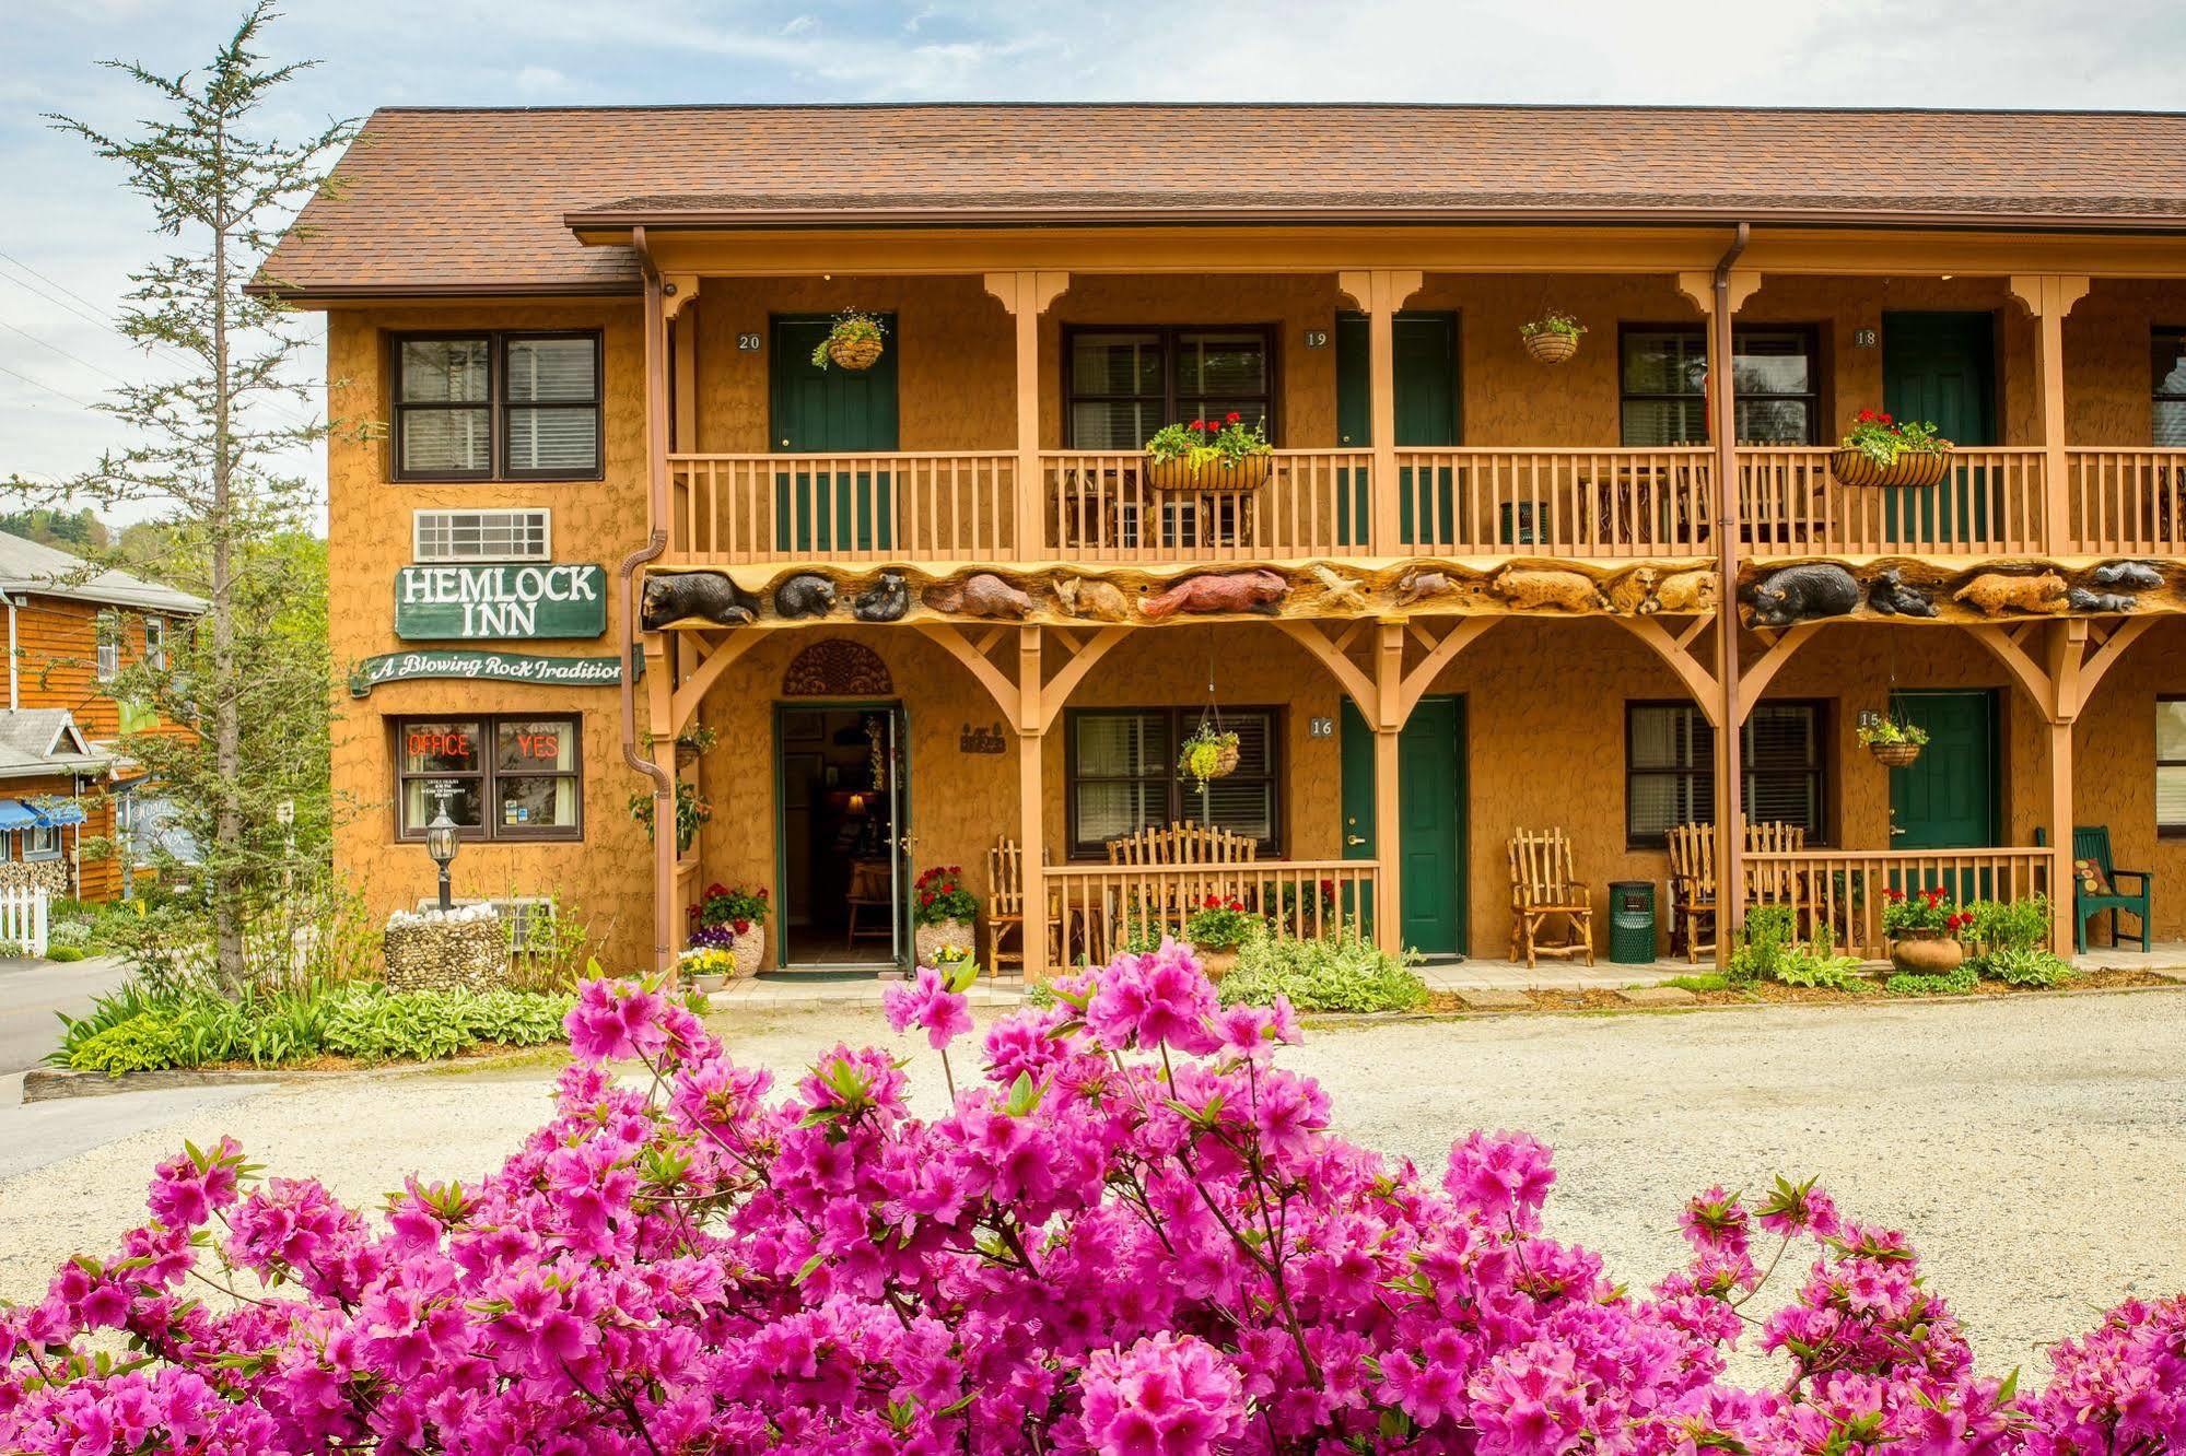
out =
[[[466,839],[577,839],[577,750],[573,717],[398,719],[398,833],[422,839],[446,802]]]

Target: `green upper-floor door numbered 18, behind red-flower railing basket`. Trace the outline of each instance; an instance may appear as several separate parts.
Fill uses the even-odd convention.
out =
[[[1882,409],[1932,420],[1961,446],[1996,444],[1996,317],[1987,313],[1884,313]],[[1959,466],[1941,485],[1889,488],[1884,540],[1974,540],[1989,531],[2000,481]]]

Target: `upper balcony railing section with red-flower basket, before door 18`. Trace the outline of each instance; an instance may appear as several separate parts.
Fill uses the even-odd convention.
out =
[[[1939,485],[1841,485],[1827,446],[1738,450],[1744,555],[2042,551],[2042,448],[1959,448]]]

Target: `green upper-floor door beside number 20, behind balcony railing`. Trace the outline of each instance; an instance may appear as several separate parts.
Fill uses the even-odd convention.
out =
[[[774,319],[769,428],[785,455],[896,448],[896,319],[881,315],[888,348],[870,369],[813,363],[833,319]],[[894,547],[894,481],[885,470],[798,470],[774,474],[776,551],[888,551]]]

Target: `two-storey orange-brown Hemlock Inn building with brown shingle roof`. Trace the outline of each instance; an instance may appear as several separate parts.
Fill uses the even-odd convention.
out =
[[[783,964],[894,962],[912,877],[1008,844],[1038,973],[1196,883],[1113,864],[1172,822],[1425,953],[1504,953],[1517,831],[1602,909],[1681,824],[1860,949],[2105,826],[2186,934],[2186,116],[387,109],[339,177],[256,286],[385,422],[328,446],[378,909],[446,802],[470,894],[627,964],[708,883]],[[1862,409],[1941,479],[1841,479]],[[1152,479],[1231,411],[1264,483]]]

